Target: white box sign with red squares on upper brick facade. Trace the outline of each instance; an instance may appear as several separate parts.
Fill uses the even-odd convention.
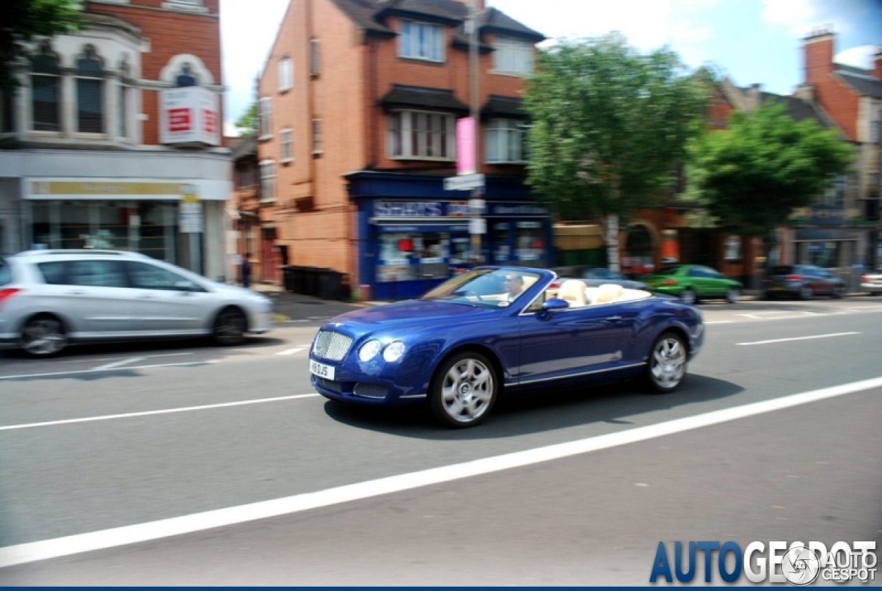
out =
[[[160,92],[160,141],[220,146],[218,94],[202,86]]]

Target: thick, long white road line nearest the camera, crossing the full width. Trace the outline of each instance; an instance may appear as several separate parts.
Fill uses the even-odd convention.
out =
[[[627,445],[687,430],[728,423],[729,421],[735,421],[747,416],[762,415],[774,410],[792,408],[817,400],[826,400],[879,387],[882,387],[882,378],[865,379],[851,384],[834,385],[833,387],[821,390],[745,404],[741,407],[723,408],[704,413],[703,415],[687,416],[666,423],[647,425],[646,427],[608,433],[557,445],[537,447],[522,452],[506,453],[482,460],[452,464],[451,466],[388,476],[364,483],[347,484],[333,489],[307,492],[292,497],[275,498],[249,505],[238,505],[214,511],[193,513],[166,520],[148,521],[131,526],[113,527],[87,534],[67,535],[41,542],[27,542],[15,546],[6,546],[0,548],[0,567],[22,565],[38,560],[71,556],[82,552],[115,548],[116,546],[147,542],[149,540],[159,540],[173,535],[192,534],[193,532],[215,527],[231,526],[254,520],[265,520],[267,518],[279,517],[280,515],[309,511],[318,507],[339,505],[340,503],[378,497],[402,490],[448,483],[471,476],[492,474],[511,468],[530,466],[550,460],[560,460],[618,445]]]

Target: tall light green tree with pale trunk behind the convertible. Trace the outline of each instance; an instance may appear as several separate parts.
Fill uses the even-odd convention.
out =
[[[709,87],[668,49],[641,55],[613,33],[543,50],[527,81],[527,182],[565,220],[599,221],[617,268],[617,227],[664,198]]]

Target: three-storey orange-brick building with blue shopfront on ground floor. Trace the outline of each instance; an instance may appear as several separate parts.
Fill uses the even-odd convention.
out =
[[[482,256],[547,265],[549,210],[523,183],[520,108],[544,37],[477,4]],[[468,13],[457,0],[291,1],[258,86],[267,278],[288,260],[400,298],[465,261],[468,193],[444,178],[469,113]]]

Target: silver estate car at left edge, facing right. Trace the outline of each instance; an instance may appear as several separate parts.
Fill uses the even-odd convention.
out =
[[[71,342],[265,333],[273,303],[124,251],[26,251],[0,258],[0,342],[56,355]]]

